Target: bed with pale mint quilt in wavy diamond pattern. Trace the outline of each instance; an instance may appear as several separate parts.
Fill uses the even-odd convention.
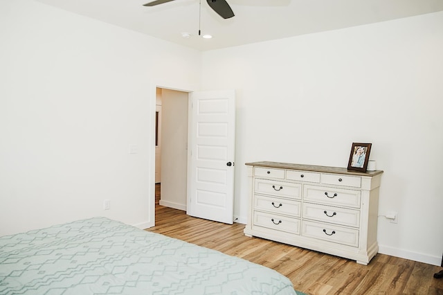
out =
[[[0,294],[302,294],[273,269],[94,217],[0,237]]]

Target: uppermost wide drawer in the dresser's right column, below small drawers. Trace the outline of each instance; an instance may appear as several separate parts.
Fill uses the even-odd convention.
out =
[[[303,200],[332,206],[360,208],[361,191],[305,185]]]

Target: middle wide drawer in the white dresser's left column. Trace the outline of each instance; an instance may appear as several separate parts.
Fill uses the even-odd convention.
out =
[[[291,199],[278,199],[277,197],[255,195],[254,208],[255,210],[286,214],[293,217],[300,217],[301,215],[301,202]]]

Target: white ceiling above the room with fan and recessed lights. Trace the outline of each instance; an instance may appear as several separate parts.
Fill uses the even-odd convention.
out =
[[[37,1],[201,51],[443,10],[443,0],[227,0],[235,17],[222,19],[201,0],[200,21],[200,0],[153,7],[143,6],[152,0]],[[199,37],[199,27],[213,39]]]

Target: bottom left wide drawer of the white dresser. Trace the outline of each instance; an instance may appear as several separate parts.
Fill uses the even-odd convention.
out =
[[[259,211],[254,212],[254,226],[262,226],[276,231],[300,234],[300,220],[297,218],[285,217],[278,214],[269,214]]]

